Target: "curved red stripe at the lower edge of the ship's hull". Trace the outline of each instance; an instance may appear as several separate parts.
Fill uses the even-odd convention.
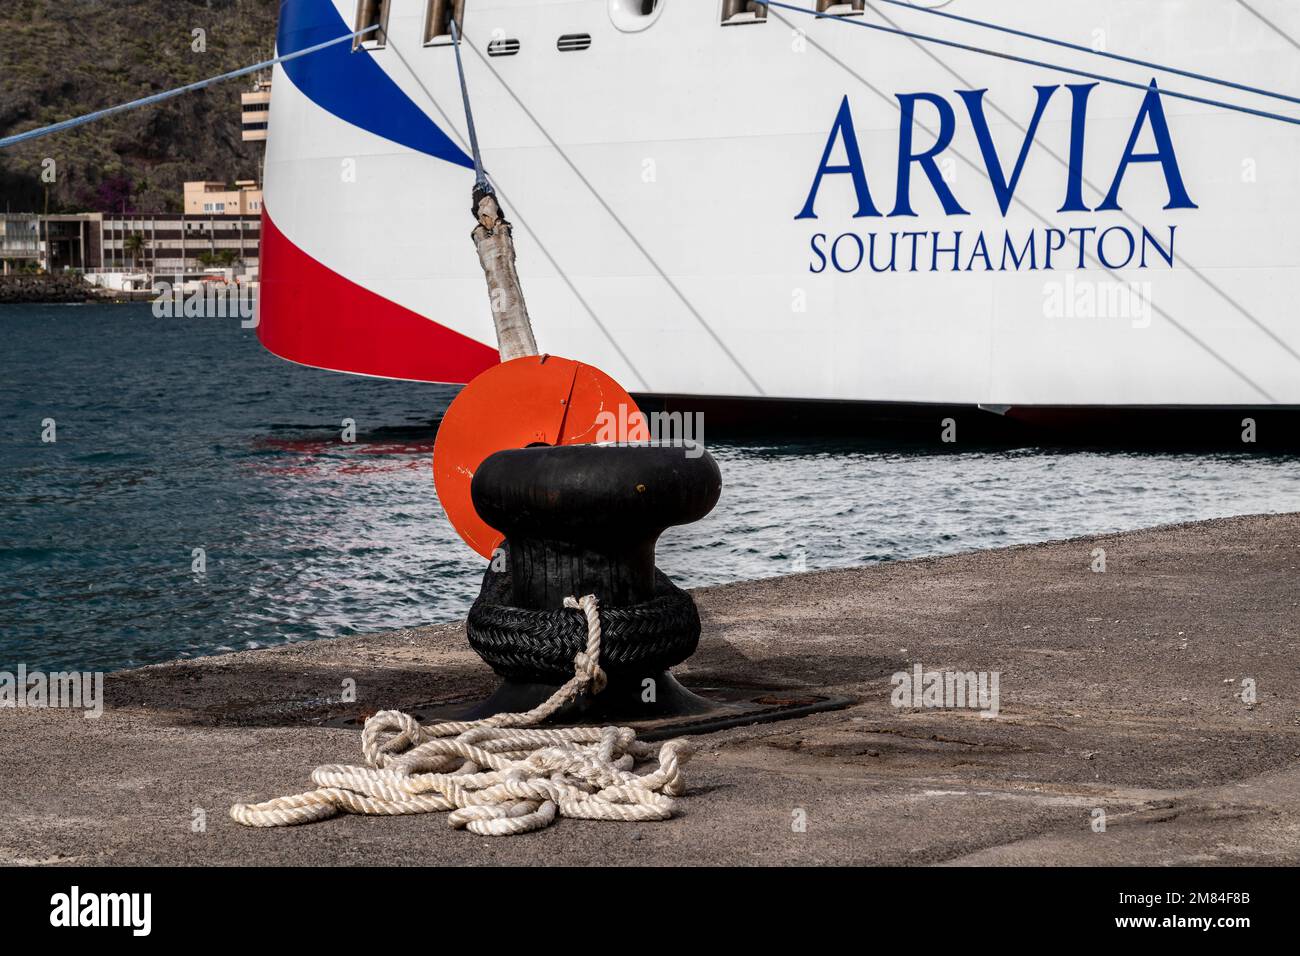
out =
[[[351,282],[261,215],[257,338],[303,365],[384,378],[464,384],[497,350]]]

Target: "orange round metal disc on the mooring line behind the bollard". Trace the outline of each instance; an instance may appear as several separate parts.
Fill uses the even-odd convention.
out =
[[[474,511],[469,483],[485,458],[528,445],[645,441],[649,428],[621,385],[593,365],[525,355],[462,389],[433,445],[433,483],[451,525],[485,558],[504,540]]]

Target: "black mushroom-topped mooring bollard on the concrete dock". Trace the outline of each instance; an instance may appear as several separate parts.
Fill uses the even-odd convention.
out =
[[[474,472],[474,509],[506,535],[469,615],[471,645],[504,679],[467,717],[526,710],[573,672],[586,644],[566,597],[601,601],[599,695],[567,721],[647,721],[718,709],[668,667],[699,640],[694,601],[655,570],[664,529],[699,520],[722,493],[718,463],[698,446],[567,445],[498,451]]]

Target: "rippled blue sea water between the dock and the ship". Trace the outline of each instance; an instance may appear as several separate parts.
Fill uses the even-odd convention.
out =
[[[5,306],[0,341],[0,670],[445,622],[473,600],[482,562],[429,467],[454,389],[303,368],[238,320],[147,304]],[[722,502],[659,549],[688,587],[1300,510],[1286,457],[705,437]]]

